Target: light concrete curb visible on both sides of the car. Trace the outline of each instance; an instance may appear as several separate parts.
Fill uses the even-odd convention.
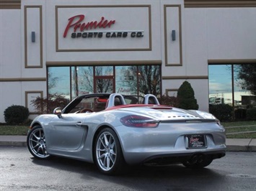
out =
[[[0,135],[0,146],[27,146],[27,136]],[[256,139],[226,139],[228,152],[256,152]]]

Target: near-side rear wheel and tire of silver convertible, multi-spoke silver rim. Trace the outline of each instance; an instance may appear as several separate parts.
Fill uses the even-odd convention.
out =
[[[105,128],[97,135],[94,149],[94,162],[103,174],[121,174],[126,164],[118,136],[110,128]]]

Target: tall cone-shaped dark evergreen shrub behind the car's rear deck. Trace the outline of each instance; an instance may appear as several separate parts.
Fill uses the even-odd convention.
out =
[[[177,99],[179,101],[179,108],[198,109],[198,101],[195,99],[194,90],[187,81],[180,85],[177,91]]]

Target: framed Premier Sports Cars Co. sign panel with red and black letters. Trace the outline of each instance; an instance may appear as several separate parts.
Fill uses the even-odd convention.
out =
[[[56,6],[56,51],[151,50],[150,6]]]

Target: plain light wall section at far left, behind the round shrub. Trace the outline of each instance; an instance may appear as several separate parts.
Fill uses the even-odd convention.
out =
[[[12,17],[10,17],[12,15]],[[21,78],[20,10],[0,9],[0,79]],[[22,82],[0,81],[0,121],[4,121],[4,109],[22,102]]]

